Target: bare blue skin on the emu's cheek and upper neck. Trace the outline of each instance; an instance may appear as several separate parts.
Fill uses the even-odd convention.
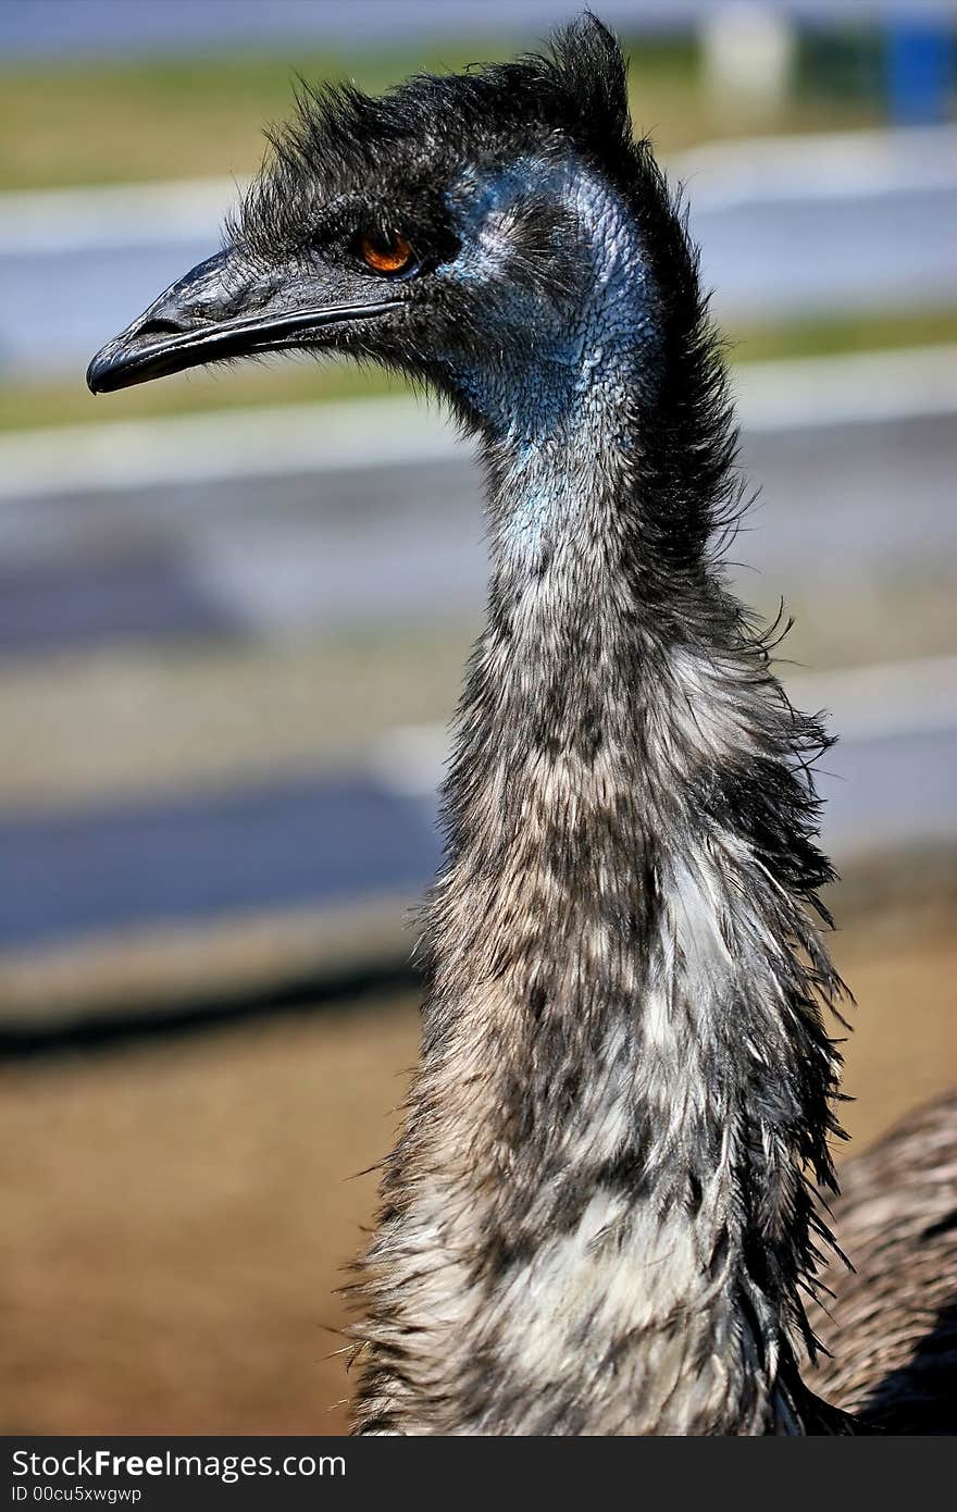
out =
[[[571,159],[526,159],[454,198],[455,277],[481,328],[449,354],[452,386],[505,463],[496,543],[513,561],[538,558],[627,473],[656,366],[650,274],[618,194]]]

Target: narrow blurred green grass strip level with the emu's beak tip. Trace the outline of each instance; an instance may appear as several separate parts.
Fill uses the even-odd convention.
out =
[[[957,310],[741,327],[729,333],[729,357],[733,363],[776,361],[942,342],[957,342]],[[399,392],[401,380],[376,369],[289,358],[181,373],[100,399],[88,393],[83,375],[77,373],[73,381],[0,387],[0,431]]]

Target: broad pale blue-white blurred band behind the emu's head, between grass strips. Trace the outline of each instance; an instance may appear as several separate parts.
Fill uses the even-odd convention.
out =
[[[957,129],[711,144],[676,159],[726,321],[957,302]],[[0,197],[0,373],[82,367],[219,245],[230,180]]]

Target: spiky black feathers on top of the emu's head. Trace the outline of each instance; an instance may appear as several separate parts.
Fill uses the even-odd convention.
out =
[[[529,147],[571,145],[627,181],[626,65],[611,32],[585,15],[550,56],[416,74],[379,97],[301,82],[296,116],[271,144],[231,225],[265,259],[310,245],[316,215],[342,197],[366,200],[386,219],[414,207],[434,222],[435,201],[464,166],[491,171]]]

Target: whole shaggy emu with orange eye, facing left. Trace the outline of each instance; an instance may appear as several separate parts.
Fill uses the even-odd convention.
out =
[[[720,348],[594,18],[549,56],[302,94],[225,249],[88,381],[287,348],[423,381],[488,478],[422,1058],[355,1282],[357,1430],[845,1433],[871,1399],[894,1427],[880,1338],[900,1376],[928,1326],[894,1293],[921,1256],[954,1275],[952,1107],[918,1222],[897,1247],[894,1204],[878,1225],[880,1305],[841,1337],[862,1374],[828,1405],[804,1379],[845,996],[818,897],[827,739],[723,579]],[[949,1370],[952,1323],[940,1340]]]

